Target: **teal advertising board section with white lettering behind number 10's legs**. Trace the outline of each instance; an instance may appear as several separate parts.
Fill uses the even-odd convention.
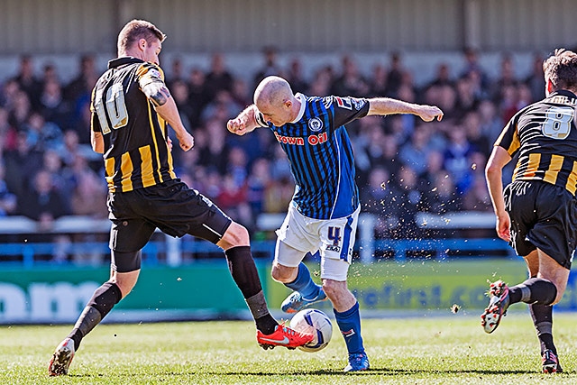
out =
[[[0,323],[74,322],[108,275],[107,268],[0,270]],[[264,276],[262,281],[267,282]],[[247,311],[243,296],[223,260],[178,268],[144,266],[131,294],[107,319],[234,317],[243,311]]]

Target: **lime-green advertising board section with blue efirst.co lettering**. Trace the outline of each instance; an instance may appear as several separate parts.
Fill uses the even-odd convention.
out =
[[[310,264],[318,276],[318,265]],[[361,308],[374,310],[442,310],[453,305],[481,309],[487,306],[489,281],[517,283],[527,278],[521,260],[379,261],[353,263],[348,287]],[[317,280],[320,282],[320,280]],[[270,303],[282,302],[289,290],[269,284]],[[328,305],[323,307],[330,308]]]

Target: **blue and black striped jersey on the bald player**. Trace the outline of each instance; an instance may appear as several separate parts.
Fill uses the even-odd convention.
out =
[[[257,123],[269,127],[287,153],[297,183],[293,201],[298,211],[315,219],[353,214],[359,206],[353,146],[344,128],[369,112],[366,99],[339,96],[304,96],[295,121],[276,127],[261,114]]]

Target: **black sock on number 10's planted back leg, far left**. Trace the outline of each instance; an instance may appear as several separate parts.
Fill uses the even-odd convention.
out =
[[[74,341],[75,351],[78,350],[82,338],[90,333],[122,298],[122,292],[115,283],[105,282],[96,289],[69,334],[69,338]]]

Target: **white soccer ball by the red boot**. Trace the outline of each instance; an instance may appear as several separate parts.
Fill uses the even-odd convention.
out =
[[[314,335],[313,341],[298,346],[298,349],[305,352],[318,352],[324,349],[333,336],[333,324],[328,316],[317,309],[305,309],[299,311],[290,320],[290,328],[300,333]]]

